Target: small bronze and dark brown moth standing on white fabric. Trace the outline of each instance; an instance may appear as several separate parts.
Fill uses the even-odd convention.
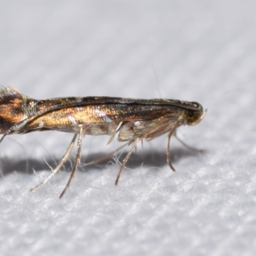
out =
[[[196,125],[206,111],[197,102],[172,99],[127,99],[117,97],[62,97],[36,100],[22,95],[13,87],[0,88],[0,134],[1,141],[9,134],[24,134],[35,131],[72,132],[67,151],[51,175],[31,191],[44,185],[67,161],[77,140],[77,153],[74,166],[65,189],[74,178],[77,164],[81,159],[83,137],[88,135],[110,136],[111,143],[116,134],[118,141],[131,145],[127,156],[116,176],[115,184],[131,156],[138,141],[153,140],[164,133],[168,135],[167,162],[170,161],[170,139],[180,125]]]

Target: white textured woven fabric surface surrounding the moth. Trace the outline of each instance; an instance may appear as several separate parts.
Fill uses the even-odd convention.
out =
[[[72,134],[0,145],[1,255],[255,255],[255,1],[0,1],[0,83],[36,99],[120,96],[197,101],[208,109],[175,138],[118,164],[71,162],[45,185]],[[84,138],[83,163],[108,136]],[[128,148],[127,148],[128,149]],[[73,154],[74,156],[74,154]],[[119,156],[119,155],[118,155]],[[35,172],[33,172],[35,170]]]

